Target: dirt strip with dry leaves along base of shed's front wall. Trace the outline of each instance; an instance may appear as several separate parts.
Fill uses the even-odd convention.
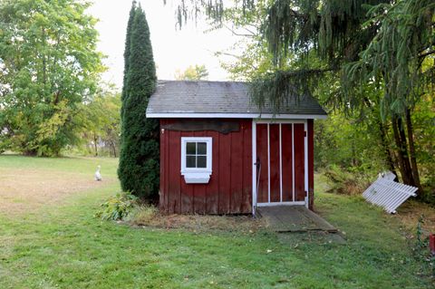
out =
[[[264,219],[252,216],[162,215],[155,207],[140,207],[126,222],[133,226],[182,228],[194,232],[221,230],[254,233],[266,228]]]

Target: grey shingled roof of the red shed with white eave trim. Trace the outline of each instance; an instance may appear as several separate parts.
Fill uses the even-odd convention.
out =
[[[251,103],[247,82],[159,81],[147,117],[258,118],[272,115]],[[312,97],[293,98],[277,118],[324,118],[326,112]]]

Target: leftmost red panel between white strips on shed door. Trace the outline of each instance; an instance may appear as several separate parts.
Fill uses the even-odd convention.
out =
[[[268,202],[268,156],[267,156],[267,124],[256,125],[256,158],[261,167],[257,171],[258,181],[257,203]]]

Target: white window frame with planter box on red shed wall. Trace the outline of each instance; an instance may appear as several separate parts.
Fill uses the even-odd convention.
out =
[[[206,168],[187,168],[187,144],[188,142],[206,143]],[[198,148],[198,145],[197,145]],[[197,151],[198,156],[198,151]],[[208,183],[212,173],[213,140],[211,137],[181,137],[181,175],[185,177],[187,183]]]

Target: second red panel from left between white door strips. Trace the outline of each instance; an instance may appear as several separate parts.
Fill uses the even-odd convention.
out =
[[[280,202],[279,124],[270,124],[270,201]]]

